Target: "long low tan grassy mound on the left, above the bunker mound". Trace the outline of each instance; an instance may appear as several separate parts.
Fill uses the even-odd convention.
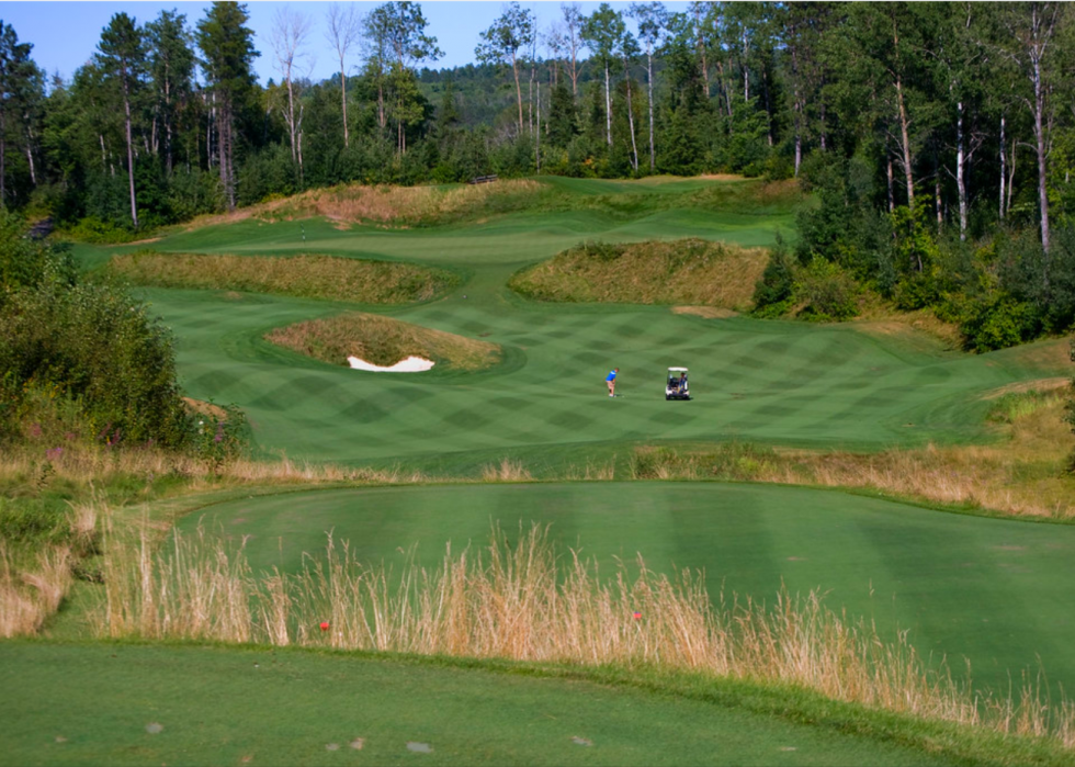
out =
[[[139,285],[275,293],[301,298],[409,304],[429,301],[459,283],[443,269],[331,256],[248,258],[139,251],[109,264]]]

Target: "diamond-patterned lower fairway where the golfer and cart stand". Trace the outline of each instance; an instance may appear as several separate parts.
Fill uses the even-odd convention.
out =
[[[465,290],[465,289],[464,289]],[[341,463],[529,443],[746,439],[884,448],[984,436],[981,396],[1039,374],[998,358],[893,354],[852,327],[701,319],[657,307],[539,307],[496,295],[401,313],[408,322],[482,337],[511,364],[478,374],[364,373],[260,340],[268,326],[324,303],[154,291],[180,335],[191,396],[234,402],[265,450]],[[212,315],[212,324],[204,324]],[[665,369],[691,369],[694,401],[666,403]],[[619,366],[615,401],[603,379]]]

